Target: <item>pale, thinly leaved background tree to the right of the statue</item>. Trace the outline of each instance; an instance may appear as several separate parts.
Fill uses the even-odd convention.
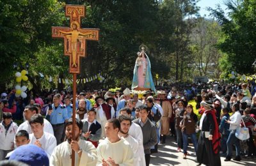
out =
[[[220,76],[218,61],[221,57],[220,51],[216,48],[220,40],[220,26],[215,20],[208,20],[204,17],[196,19],[196,27],[191,34],[191,48],[195,60],[191,65],[198,70],[200,76],[215,74]],[[216,69],[216,70],[215,70]]]

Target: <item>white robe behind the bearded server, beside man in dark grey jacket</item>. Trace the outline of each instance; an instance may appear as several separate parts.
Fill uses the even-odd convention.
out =
[[[128,133],[138,141],[138,144],[139,144],[138,162],[141,166],[145,166],[146,162],[145,162],[145,153],[144,153],[144,147],[143,147],[143,133],[140,125],[132,122]]]

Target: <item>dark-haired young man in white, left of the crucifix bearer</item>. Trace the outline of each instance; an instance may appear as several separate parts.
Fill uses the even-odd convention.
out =
[[[35,144],[45,150],[48,158],[57,146],[57,140],[51,133],[44,132],[44,117],[41,114],[31,116],[29,121],[33,133],[29,134],[30,144]]]

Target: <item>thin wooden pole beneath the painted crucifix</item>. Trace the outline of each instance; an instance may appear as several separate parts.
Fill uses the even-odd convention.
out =
[[[73,114],[72,114],[72,140],[76,140],[75,125],[76,125],[76,73],[73,73]],[[75,165],[75,151],[72,150],[72,166]]]

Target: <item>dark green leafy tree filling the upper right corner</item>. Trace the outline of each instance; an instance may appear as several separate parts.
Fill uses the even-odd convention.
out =
[[[256,54],[256,3],[255,1],[226,1],[230,13],[225,17],[223,10],[212,10],[223,32],[218,48],[227,55],[221,59],[223,71],[253,73],[252,63]]]

